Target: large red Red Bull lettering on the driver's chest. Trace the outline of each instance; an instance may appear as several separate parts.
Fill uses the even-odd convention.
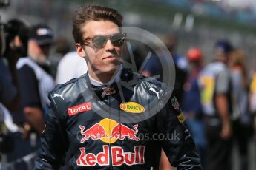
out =
[[[109,166],[109,146],[103,145],[103,152],[98,154],[86,153],[85,147],[79,148],[80,156],[76,160],[78,166]],[[134,164],[144,164],[145,146],[134,146],[134,152],[125,152],[122,147],[111,147],[112,166],[122,166],[123,164],[131,166]]]

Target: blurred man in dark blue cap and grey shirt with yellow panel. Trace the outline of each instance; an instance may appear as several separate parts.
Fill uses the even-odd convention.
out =
[[[206,169],[231,169],[232,82],[228,67],[232,46],[229,41],[214,45],[214,61],[200,72],[200,100],[206,119]]]

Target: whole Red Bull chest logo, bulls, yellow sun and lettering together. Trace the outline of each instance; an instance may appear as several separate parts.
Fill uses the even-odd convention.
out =
[[[105,118],[99,123],[94,124],[89,129],[85,130],[85,126],[80,125],[80,133],[82,139],[80,143],[85,143],[86,140],[102,140],[105,143],[114,143],[116,140],[125,140],[125,137],[130,140],[139,141],[137,137],[138,124],[132,128],[117,123],[115,120]],[[125,152],[120,146],[103,145],[102,152],[97,154],[86,152],[86,148],[80,149],[80,156],[76,160],[78,166],[107,166],[112,163],[112,166],[122,166],[122,164],[131,166],[134,164],[144,164],[145,146],[134,146],[133,152]],[[111,153],[110,153],[111,152]]]

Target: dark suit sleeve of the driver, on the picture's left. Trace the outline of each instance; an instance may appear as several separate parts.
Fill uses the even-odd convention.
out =
[[[65,163],[68,137],[64,127],[52,101],[47,111],[45,131],[41,137],[41,148],[34,169],[59,169]]]

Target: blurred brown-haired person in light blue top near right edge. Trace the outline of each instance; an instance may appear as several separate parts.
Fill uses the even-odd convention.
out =
[[[234,50],[229,57],[232,75],[232,130],[237,140],[240,169],[247,170],[248,144],[250,135],[249,79],[246,72],[246,55],[242,50]]]

